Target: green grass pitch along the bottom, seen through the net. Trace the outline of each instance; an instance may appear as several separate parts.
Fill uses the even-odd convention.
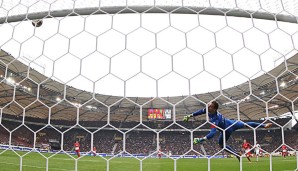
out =
[[[79,171],[106,171],[107,160],[101,157],[84,156],[77,160],[77,168],[75,168],[76,156],[68,156],[66,154],[43,155],[39,153],[24,153],[13,152],[10,150],[0,151],[0,170],[1,171],[16,171],[20,170],[20,157],[22,159],[22,171],[45,171],[46,170],[46,158],[48,158],[48,170],[49,171],[73,171],[75,169]],[[108,159],[108,158],[106,158]],[[252,163],[249,163],[246,158],[242,158],[242,170],[243,171],[269,171],[270,159],[269,158],[256,158],[252,159]],[[112,158],[109,162],[110,171],[139,171],[141,168],[140,160],[135,158]],[[163,158],[148,158],[142,160],[143,171],[173,171],[175,162],[173,159]],[[176,160],[177,171],[207,171],[208,160],[207,159],[178,159]],[[272,170],[273,171],[294,171],[297,166],[296,157],[282,157],[272,158]],[[211,171],[239,171],[240,164],[236,158],[226,159],[211,159],[210,160]]]

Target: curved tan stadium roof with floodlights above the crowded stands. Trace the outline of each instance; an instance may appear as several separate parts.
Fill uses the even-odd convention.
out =
[[[61,84],[28,68],[5,51],[0,51],[2,113],[12,117],[55,120],[110,121],[147,120],[147,109],[172,109],[174,120],[205,107],[216,99],[228,118],[256,120],[297,110],[298,54],[270,72],[222,91],[191,96],[120,97],[93,94]],[[5,79],[6,78],[6,79]],[[15,90],[15,91],[14,91]],[[239,109],[239,110],[238,110]],[[140,114],[142,113],[142,116]],[[268,114],[268,115],[267,115]],[[205,116],[198,119],[205,119]]]

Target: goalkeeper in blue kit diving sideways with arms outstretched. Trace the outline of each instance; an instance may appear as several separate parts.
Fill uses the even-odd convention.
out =
[[[198,144],[198,143],[201,143],[203,141],[206,141],[206,140],[212,138],[215,135],[217,127],[218,127],[218,128],[222,129],[222,130],[219,129],[220,135],[219,135],[219,139],[218,139],[218,144],[221,148],[223,148],[223,130],[228,128],[225,130],[225,141],[228,141],[232,132],[234,132],[237,129],[241,129],[241,128],[245,127],[244,122],[227,119],[221,113],[219,113],[217,111],[217,109],[218,109],[218,103],[216,101],[212,101],[211,103],[208,104],[208,117],[209,117],[209,121],[212,123],[211,130],[210,130],[209,134],[207,134],[205,137],[194,138],[194,140],[193,140],[194,144]],[[200,109],[190,115],[184,116],[183,120],[185,122],[187,122],[189,120],[189,118],[198,116],[198,115],[202,115],[205,113],[206,113],[206,108]],[[253,128],[258,127],[258,126],[260,126],[261,128],[270,128],[272,126],[272,123],[262,124],[262,123],[257,123],[257,122],[246,122],[246,124]],[[226,149],[228,149],[228,150],[226,150]],[[239,154],[234,149],[232,149],[229,145],[226,145],[226,149],[225,150],[227,152],[235,155],[237,157],[237,159],[240,161]]]

